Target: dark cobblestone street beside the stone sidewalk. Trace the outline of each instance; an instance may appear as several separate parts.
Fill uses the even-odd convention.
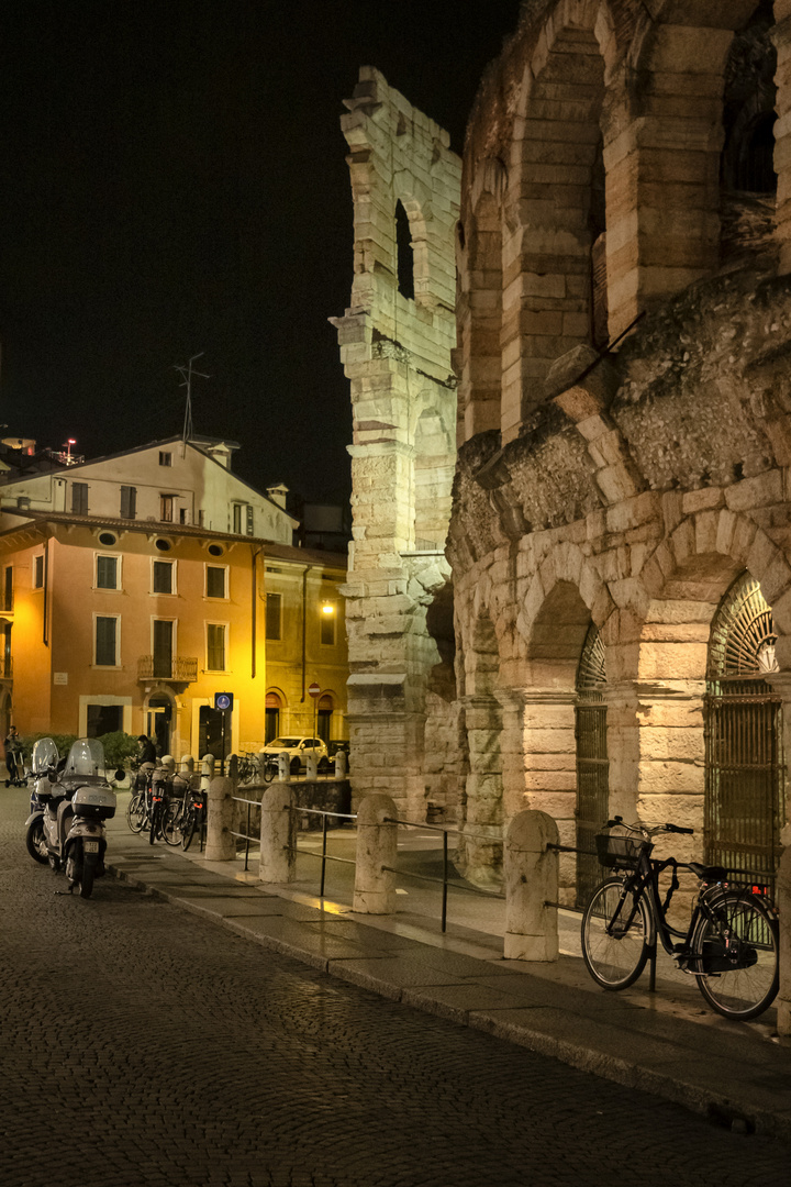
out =
[[[4,1187],[787,1187],[741,1136],[106,880],[0,807]]]

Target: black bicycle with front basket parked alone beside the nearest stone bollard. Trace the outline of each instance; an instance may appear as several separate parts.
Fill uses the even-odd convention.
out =
[[[608,820],[597,834],[599,862],[618,871],[594,891],[582,916],[582,958],[602,989],[633,985],[657,938],[678,969],[695,977],[708,1004],[726,1018],[746,1022],[771,1005],[778,991],[778,925],[766,888],[740,887],[720,865],[651,858],[652,838],[662,832],[691,833],[674,824]],[[659,875],[672,877],[664,902]],[[700,882],[687,932],[666,920],[680,869]]]

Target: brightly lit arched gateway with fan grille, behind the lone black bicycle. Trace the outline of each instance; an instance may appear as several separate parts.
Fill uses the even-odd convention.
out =
[[[706,861],[772,884],[785,820],[774,624],[742,573],[712,623],[706,694]]]

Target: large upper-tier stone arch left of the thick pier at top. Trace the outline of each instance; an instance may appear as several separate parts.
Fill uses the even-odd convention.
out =
[[[525,65],[511,145],[503,292],[502,432],[543,400],[551,363],[592,341],[592,180],[601,141],[606,6],[561,0]],[[607,37],[607,45],[611,38]]]

